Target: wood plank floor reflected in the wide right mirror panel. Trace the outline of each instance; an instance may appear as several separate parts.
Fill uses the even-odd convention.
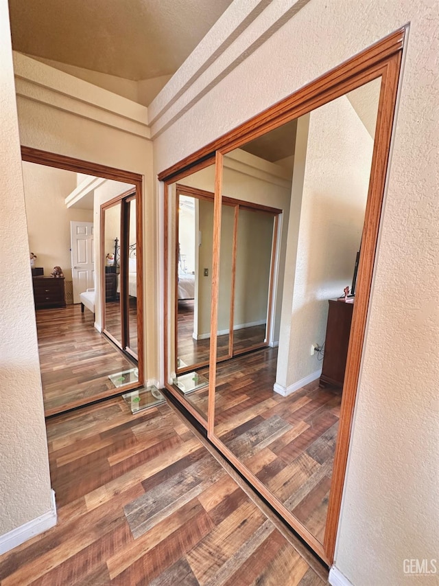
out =
[[[215,434],[322,541],[342,394],[314,381],[283,397],[276,361],[265,348],[217,365]],[[201,413],[207,398],[188,396]]]

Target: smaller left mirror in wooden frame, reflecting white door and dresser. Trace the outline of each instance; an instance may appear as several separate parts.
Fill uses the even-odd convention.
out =
[[[142,177],[25,146],[22,156],[51,416],[143,386]]]

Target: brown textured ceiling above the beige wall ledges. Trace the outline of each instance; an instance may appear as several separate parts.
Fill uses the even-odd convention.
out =
[[[9,0],[12,47],[128,80],[174,74],[232,0]]]

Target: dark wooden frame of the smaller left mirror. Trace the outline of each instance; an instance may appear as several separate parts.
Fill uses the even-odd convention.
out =
[[[100,165],[97,163],[91,163],[90,161],[83,161],[82,159],[75,159],[74,157],[67,157],[66,155],[57,155],[56,153],[49,153],[47,150],[40,150],[38,148],[32,148],[29,146],[21,146],[21,159],[29,163],[36,163],[38,165],[45,165],[47,167],[54,167],[57,169],[64,169],[67,171],[73,171],[75,173],[84,173],[94,175],[95,177],[102,177],[103,179],[111,179],[112,181],[121,181],[122,183],[130,183],[134,185],[136,192],[136,233],[137,233],[137,295],[141,302],[137,308],[137,335],[138,335],[138,365],[139,370],[139,381],[137,383],[130,383],[124,387],[119,387],[113,390],[107,390],[105,392],[97,394],[93,397],[93,401],[100,400],[102,398],[108,398],[110,396],[116,396],[122,392],[132,390],[143,386],[145,383],[145,368],[144,368],[144,341],[143,341],[143,205],[142,205],[142,192],[143,192],[143,179],[139,173],[133,173],[130,171],[124,171],[114,167],[108,167],[106,165]],[[133,192],[131,189],[130,192]],[[100,218],[99,218],[99,221]],[[102,244],[102,243],[101,243]],[[100,262],[100,260],[99,260]],[[139,271],[140,269],[140,271]],[[101,275],[102,277],[102,275]],[[101,283],[102,286],[102,283]],[[101,312],[103,313],[102,305]],[[101,316],[102,317],[102,316]],[[81,407],[86,405],[88,401],[78,402],[73,407]],[[51,415],[48,412],[46,416]]]

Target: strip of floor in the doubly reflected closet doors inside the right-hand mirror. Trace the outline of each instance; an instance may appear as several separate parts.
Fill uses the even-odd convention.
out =
[[[185,364],[209,362],[210,339],[193,339],[193,300],[178,302],[178,357]],[[265,339],[265,324],[235,330],[233,352],[257,346]],[[228,334],[217,338],[217,357],[228,356]]]

